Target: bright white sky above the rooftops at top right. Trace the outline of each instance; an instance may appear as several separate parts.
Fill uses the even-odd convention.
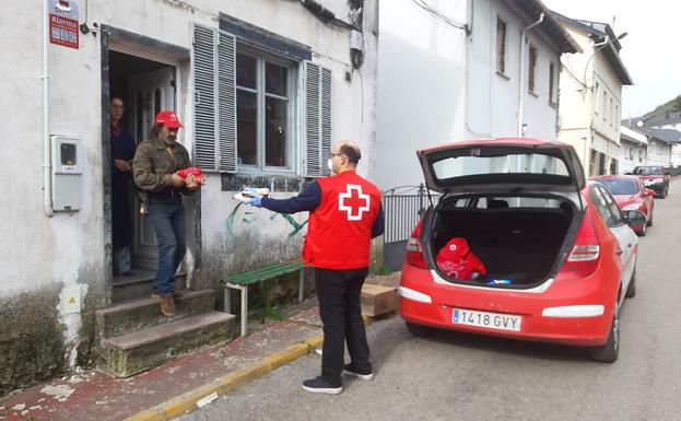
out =
[[[620,57],[634,81],[624,86],[622,118],[637,117],[681,95],[679,34],[681,2],[669,0],[542,0],[544,5],[572,19],[613,25],[626,32]]]

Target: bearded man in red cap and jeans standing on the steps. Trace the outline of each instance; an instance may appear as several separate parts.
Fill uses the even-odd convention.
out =
[[[177,172],[191,166],[189,152],[177,142],[183,127],[174,112],[160,112],[151,129],[151,139],[140,143],[132,160],[134,184],[149,192],[148,219],[158,243],[158,271],[153,297],[161,299],[161,313],[175,315],[175,272],[185,257],[185,207],[183,195],[200,186],[193,175],[186,179]]]

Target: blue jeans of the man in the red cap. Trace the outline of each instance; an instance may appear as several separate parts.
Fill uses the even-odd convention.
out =
[[[158,243],[158,272],[152,285],[161,296],[173,296],[175,272],[185,257],[185,207],[180,198],[175,201],[152,201],[149,222]]]

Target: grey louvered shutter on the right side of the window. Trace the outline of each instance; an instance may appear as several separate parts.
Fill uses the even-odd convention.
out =
[[[330,174],[326,160],[331,153],[331,71],[303,62],[305,85],[305,176]]]

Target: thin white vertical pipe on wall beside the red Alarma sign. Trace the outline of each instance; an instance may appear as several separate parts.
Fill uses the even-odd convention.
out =
[[[43,0],[43,141],[45,143],[44,188],[45,194],[45,214],[48,218],[55,215],[52,211],[52,160],[51,145],[49,141],[49,72],[48,72],[48,51],[49,51],[49,1]]]

